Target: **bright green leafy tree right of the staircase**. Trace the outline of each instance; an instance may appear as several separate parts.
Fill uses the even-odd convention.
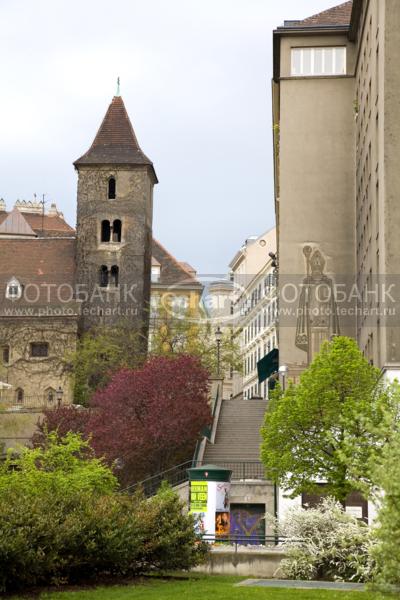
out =
[[[317,481],[342,503],[355,487],[370,490],[399,398],[354,340],[326,342],[298,385],[273,393],[262,428],[267,475],[292,496],[315,491]]]

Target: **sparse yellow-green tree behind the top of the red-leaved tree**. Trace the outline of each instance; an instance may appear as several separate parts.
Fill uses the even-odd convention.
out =
[[[210,375],[217,375],[216,328],[212,321],[198,312],[179,315],[160,307],[151,336],[150,353],[155,356],[197,356]],[[219,369],[220,373],[242,369],[240,347],[230,327],[222,331]]]

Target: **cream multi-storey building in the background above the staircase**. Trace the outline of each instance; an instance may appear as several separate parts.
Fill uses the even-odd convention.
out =
[[[243,372],[233,382],[233,395],[267,398],[268,382],[259,383],[257,363],[277,347],[275,229],[246,240],[231,261],[233,314],[243,356]]]

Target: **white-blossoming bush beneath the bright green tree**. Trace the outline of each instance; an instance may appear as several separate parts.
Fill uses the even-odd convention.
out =
[[[363,582],[373,572],[370,529],[346,514],[332,498],[317,508],[293,508],[277,524],[286,536],[288,557],[282,570],[289,579],[325,579]]]

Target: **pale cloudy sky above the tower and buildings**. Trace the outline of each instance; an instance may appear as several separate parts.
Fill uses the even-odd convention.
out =
[[[272,30],[335,0],[0,0],[0,198],[75,225],[72,162],[121,95],[159,184],[153,234],[224,274],[273,227]]]

